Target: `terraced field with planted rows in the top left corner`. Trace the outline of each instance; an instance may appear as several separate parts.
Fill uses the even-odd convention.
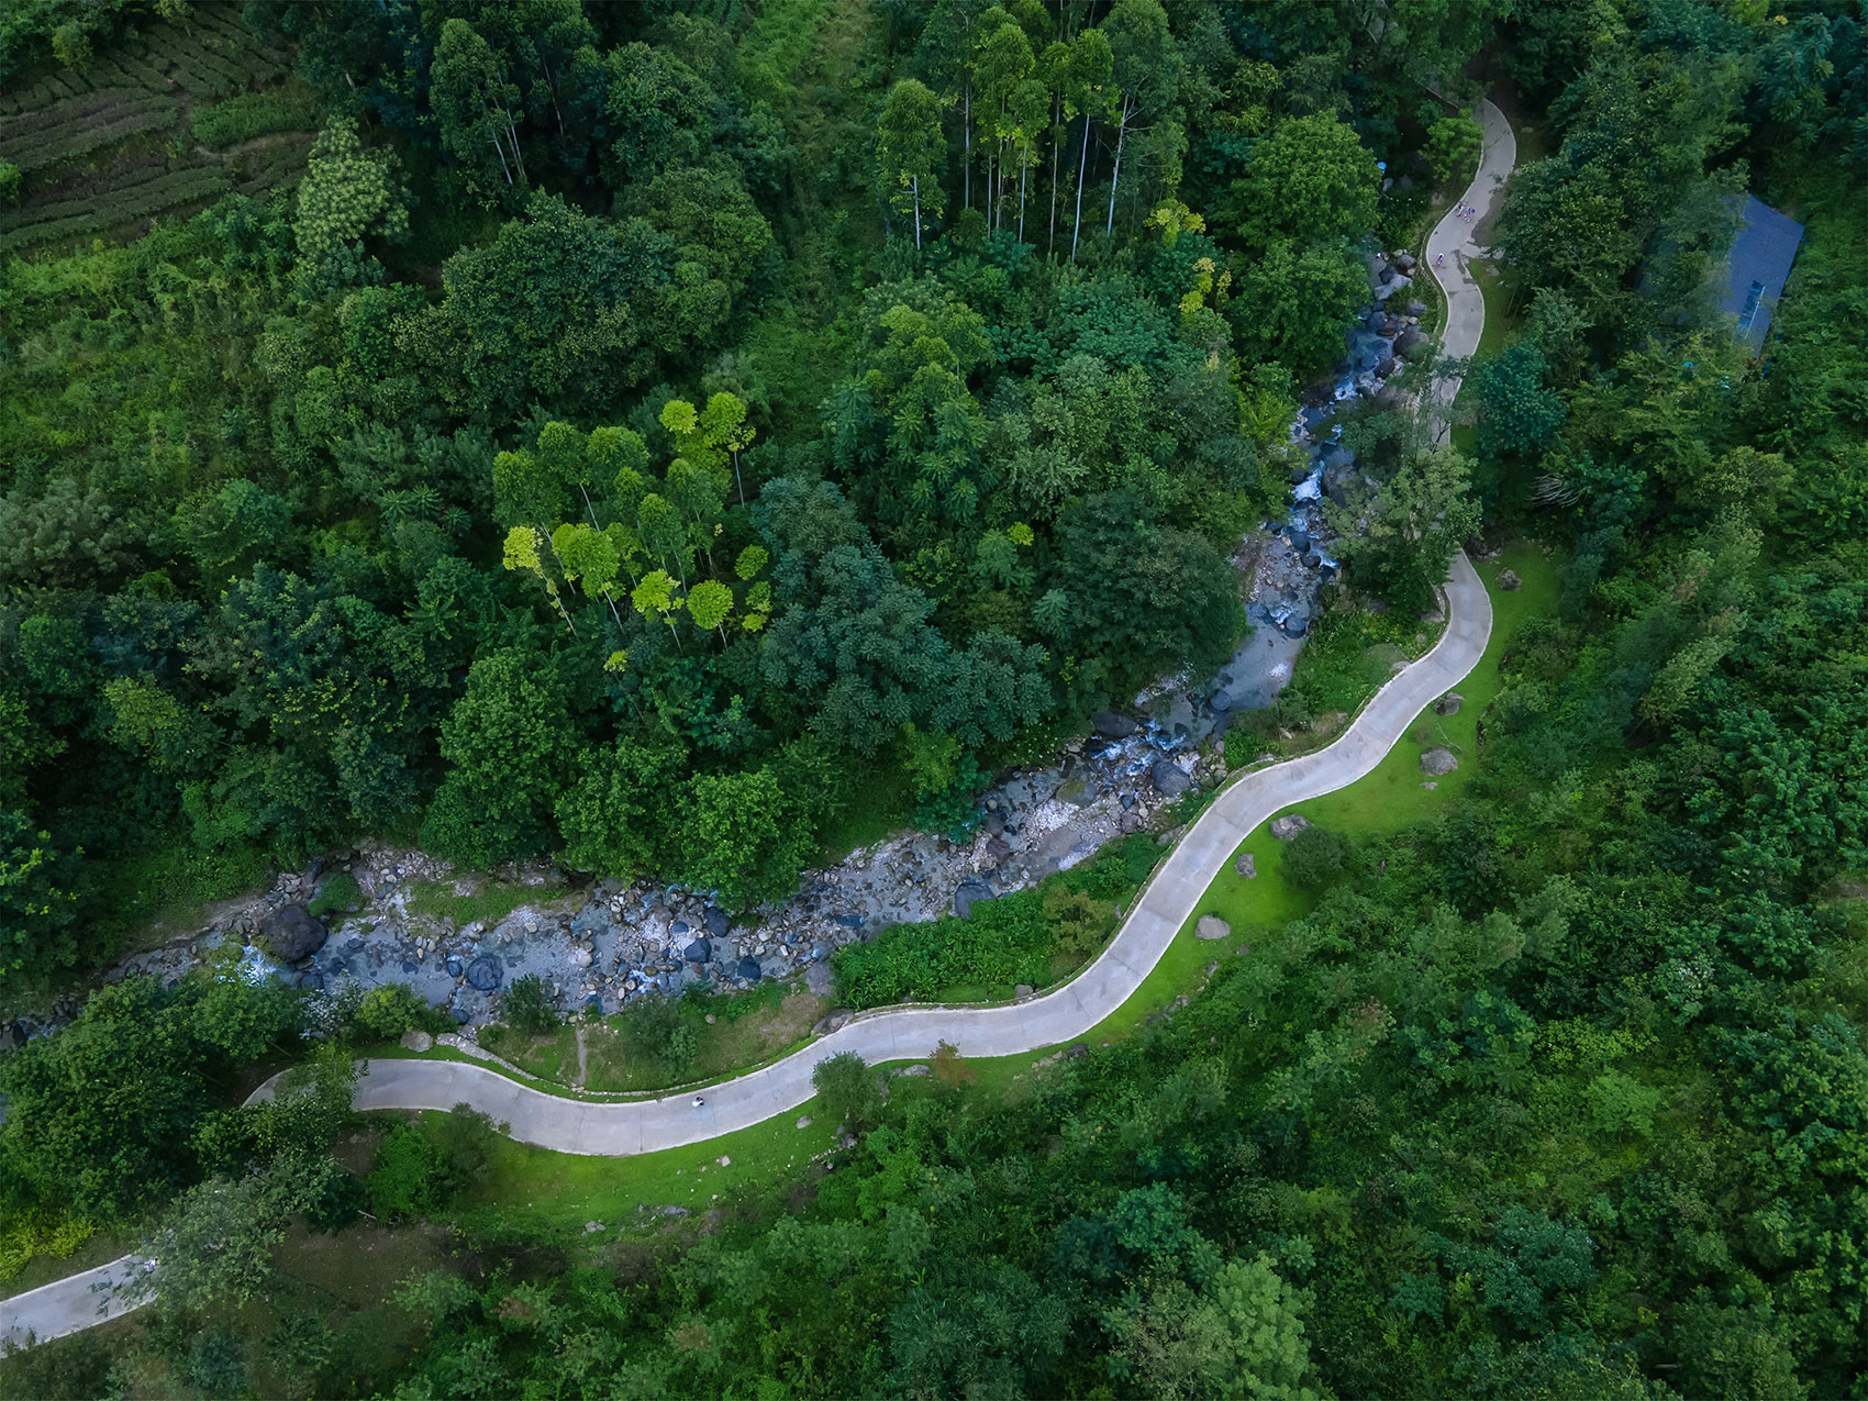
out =
[[[0,207],[0,254],[133,235],[232,191],[293,183],[316,112],[303,88],[282,86],[286,64],[247,30],[237,4],[209,0],[183,22],[0,93],[0,161],[22,176],[21,198]],[[204,123],[219,103],[247,108],[241,121]],[[213,151],[198,125],[260,134]]]

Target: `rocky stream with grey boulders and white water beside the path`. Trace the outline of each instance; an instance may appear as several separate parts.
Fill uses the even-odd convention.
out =
[[[502,887],[523,887],[510,913],[465,923],[433,912],[445,899],[411,895],[467,900],[489,878],[458,876],[422,852],[364,844],[278,876],[271,891],[224,906],[189,938],[125,958],[103,981],[177,979],[234,945],[248,977],[278,975],[321,994],[405,983],[469,1037],[499,1016],[504,988],[527,973],[553,988],[560,1009],[585,1014],[693,984],[730,992],[805,973],[824,988],[826,962],[846,943],[889,925],[966,915],[973,902],[1026,889],[1117,835],[1168,828],[1169,803],[1225,775],[1216,740],[1233,715],[1270,704],[1291,680],[1319,588],[1339,568],[1323,502],[1366,484],[1341,445],[1337,411],[1364,396],[1386,405],[1397,394],[1386,381],[1401,362],[1433,351],[1420,329],[1427,308],[1401,297],[1414,271],[1405,252],[1369,258],[1371,304],[1349,333],[1347,359],[1291,426],[1302,465],[1293,469],[1289,516],[1253,531],[1235,555],[1253,628],[1233,658],[1212,678],[1168,678],[1126,710],[1098,712],[1091,734],[1050,764],[1001,775],[981,798],[971,839],[899,833],[807,872],[792,899],[740,919],[702,891],[577,885],[562,870],[527,865],[497,872]],[[338,872],[357,882],[361,899],[316,919],[306,904]],[[67,994],[49,1014],[0,1027],[0,1040],[41,1035],[77,1007],[78,996]]]

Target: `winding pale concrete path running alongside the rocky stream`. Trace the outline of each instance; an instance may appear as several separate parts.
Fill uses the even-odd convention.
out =
[[[1463,200],[1479,211],[1474,224],[1493,213],[1517,161],[1517,142],[1504,112],[1483,101],[1479,121],[1485,149]],[[1427,265],[1442,252],[1448,265],[1435,269],[1448,310],[1440,344],[1446,355],[1466,359],[1485,329],[1485,297],[1468,267],[1479,254],[1472,224],[1451,213],[1442,219],[1427,241]],[[1435,379],[1429,390],[1435,403],[1450,409],[1459,381],[1461,375]],[[1446,441],[1448,417],[1442,415],[1436,441]],[[357,1082],[355,1104],[359,1110],[450,1110],[465,1102],[512,1125],[512,1136],[525,1143],[616,1156],[699,1143],[796,1110],[816,1093],[811,1072],[818,1061],[842,1052],[874,1063],[925,1059],[941,1040],[969,1057],[1018,1055],[1076,1040],[1141,986],[1196,913],[1214,874],[1261,822],[1373,771],[1414,717],[1478,665],[1493,631],[1493,601],[1465,555],[1453,559],[1446,605],[1440,641],[1377,691],[1336,743],[1227,785],[1156,869],[1110,947],[1055,992],[1009,1007],[902,1007],[859,1014],[783,1061],[710,1087],[699,1110],[689,1093],[596,1104],[531,1089],[482,1065],[403,1059],[370,1061]],[[254,1098],[269,1097],[275,1083],[276,1076],[254,1091]],[[0,1298],[0,1343],[64,1337],[140,1308],[148,1302],[142,1287],[146,1270],[144,1255],[123,1255]]]

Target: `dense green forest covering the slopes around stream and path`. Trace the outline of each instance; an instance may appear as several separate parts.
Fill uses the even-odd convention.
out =
[[[1366,250],[1470,177],[1487,88],[1541,134],[1509,331],[1451,450],[1351,426],[1347,587],[1418,611],[1481,521],[1560,598],[1450,816],[1337,850],[1274,956],[1039,1089],[837,1091],[833,1173],[601,1268],[465,1218],[374,1371],[207,1280],[22,1386],[1859,1394],[1857,6],[34,0],[0,82],[213,26],[290,75],[131,140],[297,151],[267,189],[75,215],[86,153],[0,123],[9,998],[370,835],[751,908],[878,773],[966,820],[1210,672]],[[1804,224],[1758,357],[1715,295],[1747,192]],[[226,1108],[303,1044],[297,994],[228,986],[133,979],[9,1057],[11,1222],[355,1214],[336,1061],[297,1117]],[[396,1130],[370,1203],[443,1216],[486,1171],[458,1119]]]

